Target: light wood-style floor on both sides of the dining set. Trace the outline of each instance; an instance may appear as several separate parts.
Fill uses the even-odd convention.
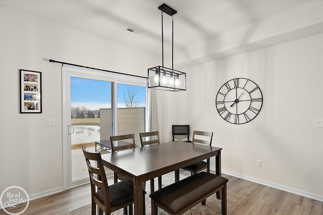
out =
[[[185,170],[181,174],[189,175]],[[323,215],[323,202],[261,184],[222,174],[229,179],[228,190],[249,199],[235,215]],[[113,183],[110,177],[109,184]],[[148,183],[149,184],[149,183]],[[24,215],[64,214],[90,204],[89,184],[30,201]],[[19,207],[19,206],[18,206]],[[21,211],[18,210],[18,211]],[[12,211],[14,212],[14,210]],[[6,214],[0,210],[0,214]]]

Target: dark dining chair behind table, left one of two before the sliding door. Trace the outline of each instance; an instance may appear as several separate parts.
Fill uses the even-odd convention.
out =
[[[125,141],[125,140],[127,140],[127,141]],[[133,133],[132,134],[125,134],[125,135],[118,135],[118,136],[110,136],[110,141],[111,141],[112,153],[120,151],[120,150],[127,150],[127,149],[136,148],[135,134],[133,134]],[[120,142],[118,142],[118,141],[120,141]],[[128,144],[128,142],[129,142],[129,144]],[[129,181],[127,178],[123,177],[122,175],[114,173],[115,183],[118,182],[118,179],[121,181]]]

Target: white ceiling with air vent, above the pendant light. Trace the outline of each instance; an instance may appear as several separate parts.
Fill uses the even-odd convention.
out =
[[[185,48],[311,1],[7,1],[1,6],[161,54],[163,3],[174,15],[174,46]],[[141,31],[134,34],[127,27]],[[164,42],[170,44],[171,17],[164,16]]]

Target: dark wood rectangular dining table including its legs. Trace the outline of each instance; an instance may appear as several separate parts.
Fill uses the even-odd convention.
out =
[[[216,157],[216,174],[221,176],[222,148],[170,141],[148,147],[103,154],[103,165],[133,182],[134,214],[144,214],[143,182],[175,171],[179,181],[179,169],[196,162]],[[175,182],[174,181],[174,182]],[[221,199],[221,192],[217,192]]]

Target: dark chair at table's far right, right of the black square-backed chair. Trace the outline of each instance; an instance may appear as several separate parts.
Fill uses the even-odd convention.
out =
[[[201,138],[203,137],[203,138]],[[211,146],[212,144],[212,137],[213,137],[213,132],[206,132],[206,131],[197,131],[193,130],[193,139],[192,143],[197,143],[197,144],[205,144],[208,146]],[[184,170],[190,171],[191,176],[206,169],[206,172],[210,172],[210,159],[206,159],[205,161],[200,161],[195,164],[192,164],[190,166],[184,167]]]

